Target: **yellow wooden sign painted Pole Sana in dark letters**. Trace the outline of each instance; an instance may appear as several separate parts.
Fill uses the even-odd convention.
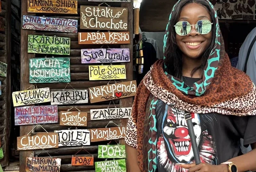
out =
[[[89,66],[89,80],[126,79],[125,65]]]

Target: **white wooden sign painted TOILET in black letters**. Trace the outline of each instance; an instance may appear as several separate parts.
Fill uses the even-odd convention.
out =
[[[59,147],[90,145],[89,130],[60,130],[54,132],[59,134]]]

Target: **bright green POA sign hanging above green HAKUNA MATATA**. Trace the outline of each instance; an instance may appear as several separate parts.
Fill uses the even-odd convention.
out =
[[[98,158],[126,158],[125,145],[99,145]]]

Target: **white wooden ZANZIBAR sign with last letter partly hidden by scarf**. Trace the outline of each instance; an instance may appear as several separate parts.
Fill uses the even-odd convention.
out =
[[[90,109],[91,120],[129,118],[132,108]]]

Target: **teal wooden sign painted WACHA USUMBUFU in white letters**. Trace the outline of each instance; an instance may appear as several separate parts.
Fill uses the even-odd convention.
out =
[[[70,59],[29,59],[29,83],[70,82]]]

